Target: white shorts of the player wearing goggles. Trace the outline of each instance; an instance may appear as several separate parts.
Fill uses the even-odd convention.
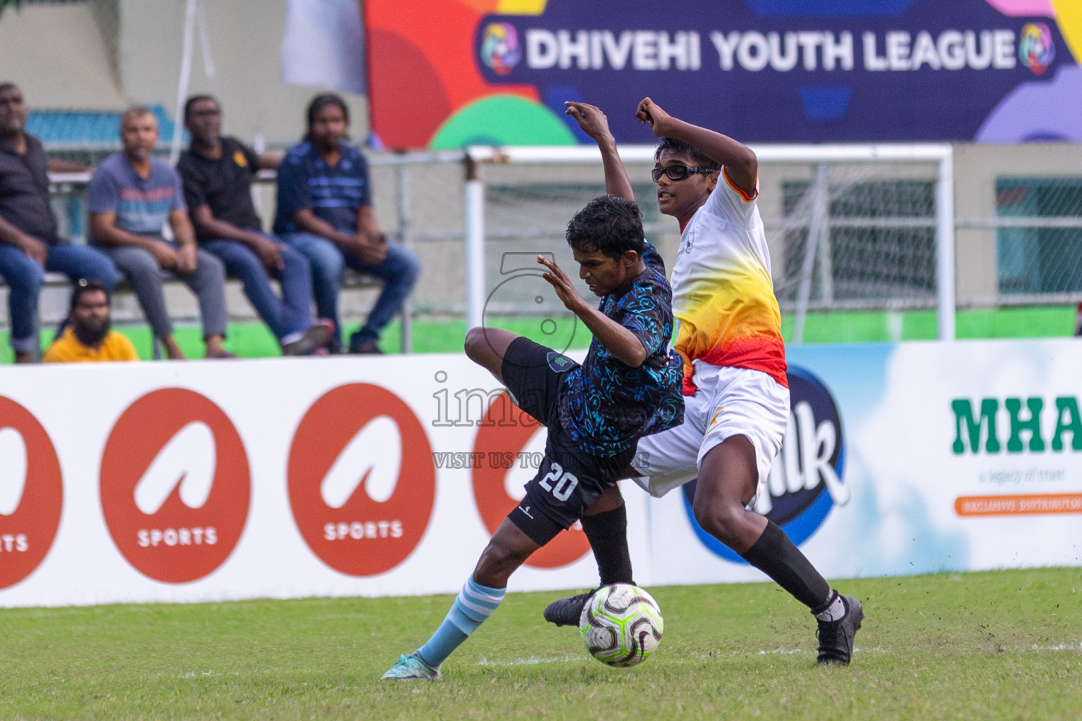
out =
[[[639,439],[632,467],[643,478],[634,480],[660,498],[696,478],[708,451],[747,436],[755,448],[757,495],[786,435],[789,389],[762,371],[699,361],[694,366],[696,391],[684,398],[684,423]]]

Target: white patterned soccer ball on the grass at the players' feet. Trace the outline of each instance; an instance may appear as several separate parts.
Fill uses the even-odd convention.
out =
[[[586,651],[608,666],[643,663],[658,647],[664,629],[658,602],[631,584],[597,589],[579,617]]]

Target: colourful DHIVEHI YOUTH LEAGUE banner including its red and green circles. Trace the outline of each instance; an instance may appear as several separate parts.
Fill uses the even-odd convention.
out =
[[[742,142],[1082,141],[1077,0],[365,3],[386,147],[621,143],[650,96]]]

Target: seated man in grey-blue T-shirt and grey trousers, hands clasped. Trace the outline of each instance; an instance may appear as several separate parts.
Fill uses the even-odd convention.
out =
[[[131,283],[143,312],[170,359],[184,353],[173,338],[173,324],[161,291],[162,272],[174,273],[199,298],[207,358],[232,358],[225,338],[225,268],[196,245],[188,222],[181,177],[154,157],[158,121],[136,107],[120,121],[122,152],[98,165],[87,189],[94,243],[103,248]],[[174,240],[166,240],[164,224]]]

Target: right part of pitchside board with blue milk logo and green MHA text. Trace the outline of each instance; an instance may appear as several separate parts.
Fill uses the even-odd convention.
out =
[[[788,356],[804,379],[758,508],[773,506],[824,575],[1082,565],[1078,341]],[[763,578],[689,509],[686,494],[650,504],[652,583]]]

